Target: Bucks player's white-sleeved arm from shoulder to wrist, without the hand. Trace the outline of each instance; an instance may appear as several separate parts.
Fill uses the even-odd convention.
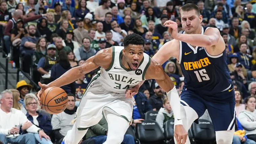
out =
[[[183,124],[181,120],[181,103],[179,94],[170,77],[164,72],[162,66],[151,59],[151,64],[145,74],[145,79],[156,79],[158,85],[166,92],[172,108],[175,124]]]

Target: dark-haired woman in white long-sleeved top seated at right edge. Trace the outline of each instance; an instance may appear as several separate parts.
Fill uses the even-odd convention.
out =
[[[245,105],[246,110],[239,114],[238,120],[244,128],[247,138],[256,141],[256,98],[247,97]]]

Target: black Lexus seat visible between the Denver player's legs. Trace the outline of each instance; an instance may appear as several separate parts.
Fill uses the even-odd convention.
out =
[[[192,124],[192,132],[196,142],[216,141],[215,131],[212,122],[206,119],[198,119],[199,124]]]

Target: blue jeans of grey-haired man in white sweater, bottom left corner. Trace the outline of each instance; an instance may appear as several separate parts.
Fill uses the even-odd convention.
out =
[[[4,134],[0,134],[0,141],[2,141],[2,143],[4,144],[7,144],[7,143],[35,144],[36,143],[35,136],[32,133],[20,135],[15,138],[6,138]]]

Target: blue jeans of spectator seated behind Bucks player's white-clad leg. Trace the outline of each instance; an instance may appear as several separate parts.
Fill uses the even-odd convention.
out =
[[[103,144],[107,140],[107,136],[105,136],[105,135],[95,136],[95,137],[90,137],[90,139],[93,139],[95,141],[95,144]],[[123,143],[135,144],[133,136],[132,135],[124,135]]]

